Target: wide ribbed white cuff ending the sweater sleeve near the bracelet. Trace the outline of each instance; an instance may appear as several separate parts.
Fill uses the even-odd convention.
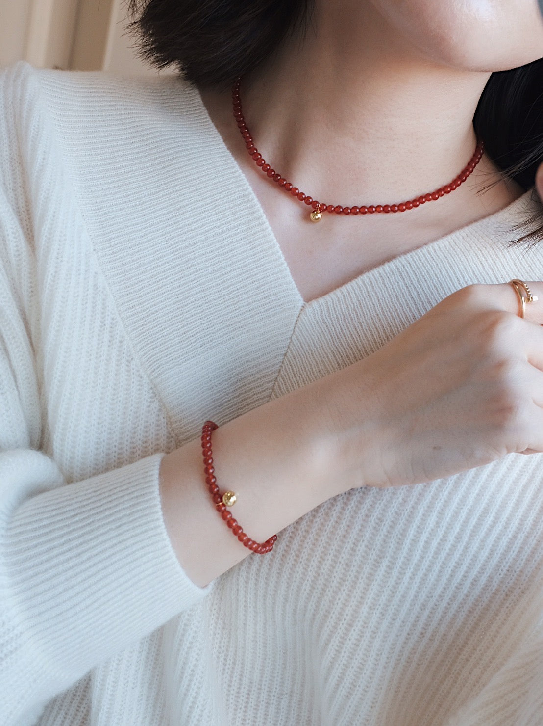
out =
[[[50,462],[39,452],[17,453],[19,472],[25,454]],[[159,495],[163,456],[57,486],[12,515],[12,608],[35,662],[62,681],[75,682],[213,587],[188,578],[170,543]]]

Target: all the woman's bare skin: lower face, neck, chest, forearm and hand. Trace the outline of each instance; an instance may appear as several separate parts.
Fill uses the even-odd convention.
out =
[[[244,79],[242,100],[274,168],[344,205],[397,203],[453,179],[473,154],[489,73],[543,57],[536,0],[316,0],[314,23]],[[312,224],[305,205],[249,163],[230,93],[202,98],[307,301],[522,193],[485,156],[459,189],[422,208]],[[543,168],[537,184],[543,195]],[[219,486],[239,494],[233,516],[263,542],[358,486],[407,486],[543,452],[543,282],[526,282],[539,301],[525,319],[506,282],[465,287],[375,354],[220,425],[213,458]],[[249,554],[202,480],[199,439],[163,457],[165,526],[201,586]]]

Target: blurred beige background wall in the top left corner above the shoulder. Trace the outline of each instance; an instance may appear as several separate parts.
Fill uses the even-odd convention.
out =
[[[126,0],[0,0],[0,18],[0,65],[156,73],[125,33]]]

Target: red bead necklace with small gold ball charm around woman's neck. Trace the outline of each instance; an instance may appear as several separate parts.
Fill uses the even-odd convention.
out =
[[[278,187],[281,187],[281,189],[284,189],[285,192],[291,194],[294,198],[299,200],[299,202],[301,202],[302,204],[307,204],[307,206],[312,209],[310,213],[310,220],[313,222],[318,222],[323,219],[323,214],[325,212],[329,214],[345,214],[347,216],[351,214],[354,214],[355,216],[357,214],[386,214],[389,212],[405,212],[408,209],[416,208],[421,204],[425,204],[426,202],[436,201],[439,199],[439,197],[444,197],[444,195],[450,194],[450,192],[452,192],[454,189],[460,187],[460,184],[463,184],[463,182],[468,179],[468,176],[470,176],[470,174],[473,172],[473,169],[476,168],[477,164],[479,163],[481,157],[484,154],[484,142],[478,141],[475,152],[473,152],[473,156],[469,160],[468,164],[463,168],[463,170],[460,171],[460,174],[458,174],[458,176],[455,176],[455,179],[449,181],[449,184],[445,184],[443,187],[439,187],[439,189],[436,189],[435,192],[429,192],[428,194],[420,195],[419,197],[410,199],[407,202],[401,202],[399,204],[372,204],[369,206],[354,205],[352,207],[344,207],[339,204],[328,204],[326,202],[320,202],[313,199],[313,197],[310,197],[310,195],[304,194],[304,192],[298,189],[298,187],[295,187],[294,184],[291,183],[291,181],[285,179],[284,176],[281,176],[281,174],[275,171],[275,169],[271,168],[270,164],[266,163],[265,159],[262,158],[262,154],[260,154],[257,147],[254,145],[254,140],[251,136],[251,132],[247,128],[243,111],[241,110],[241,97],[239,95],[240,83],[241,78],[238,78],[237,81],[233,84],[233,115],[236,119],[236,123],[238,124],[241,136],[243,136],[247,152],[249,152],[249,155],[252,157],[256,165],[260,167],[262,172],[269,176],[270,179],[273,179],[273,181],[278,184]]]

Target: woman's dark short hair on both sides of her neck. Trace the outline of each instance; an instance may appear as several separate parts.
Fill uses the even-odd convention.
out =
[[[144,60],[225,89],[307,28],[312,0],[129,0],[129,8]],[[473,127],[502,174],[530,189],[543,160],[543,59],[492,73]],[[518,229],[527,232],[515,242],[543,241],[543,205]]]

